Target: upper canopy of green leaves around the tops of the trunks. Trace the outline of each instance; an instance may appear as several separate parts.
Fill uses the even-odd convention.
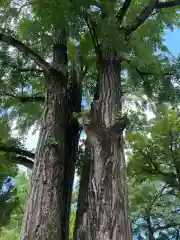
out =
[[[87,74],[83,79],[83,95],[87,100],[92,101],[98,79],[92,38],[84,21],[87,12],[96,24],[96,34],[103,49],[108,45],[110,49],[115,48],[121,56],[128,59],[123,63],[122,69],[128,73],[125,88],[131,86],[131,92],[136,92],[135,88],[143,89],[149,96],[153,98],[159,96],[161,100],[170,100],[172,93],[176,95],[176,99],[179,96],[178,89],[174,91],[172,78],[163,75],[171,67],[163,34],[165,27],[179,26],[179,12],[175,11],[175,8],[159,11],[143,23],[130,38],[125,39],[124,32],[116,29],[115,16],[122,4],[116,1],[111,1],[111,4],[108,1],[100,1],[98,4],[92,0],[71,3],[65,0],[53,2],[34,0],[26,4],[15,2],[13,8],[10,7],[11,1],[4,2],[1,4],[3,24],[6,26],[3,32],[20,38],[45,59],[52,59],[53,40],[58,31],[62,28],[67,29],[69,66],[72,66],[72,60],[78,50],[87,68]],[[147,3],[148,1],[133,1],[122,25],[131,23]],[[110,17],[101,18],[100,8],[109,13]],[[8,21],[14,21],[13,29]],[[79,44],[78,47],[74,46],[75,41]],[[38,126],[42,104],[22,103],[16,95],[43,94],[43,75],[38,71],[22,71],[22,69],[37,70],[37,67],[15,49],[12,51],[5,44],[1,46],[0,88],[4,92],[0,94],[1,107],[8,110],[9,121],[16,119],[17,128],[21,130],[21,134],[25,134],[34,123]],[[157,54],[157,51],[160,53]],[[137,69],[150,74],[142,75]]]

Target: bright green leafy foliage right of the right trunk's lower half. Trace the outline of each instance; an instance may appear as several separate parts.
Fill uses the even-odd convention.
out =
[[[139,125],[138,122],[135,122]],[[176,239],[179,218],[179,113],[158,106],[149,124],[126,135],[128,184],[133,234],[147,239],[150,217],[156,239]]]

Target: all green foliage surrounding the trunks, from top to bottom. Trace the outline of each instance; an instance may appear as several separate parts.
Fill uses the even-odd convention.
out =
[[[12,4],[12,1],[4,0],[0,3],[1,30],[22,40],[44,59],[51,62],[54,38],[57,37],[59,30],[66,29],[69,77],[71,77],[73,62],[80,52],[83,66],[87,69],[82,80],[83,96],[89,104],[94,97],[99,76],[93,39],[85,22],[85,16],[88,13],[94,22],[95,35],[103,53],[111,53],[115,50],[123,59],[121,74],[123,91],[141,97],[141,100],[142,95],[146,94],[149,98],[143,99],[144,104],[141,108],[144,109],[148,104],[152,106],[150,98],[154,102],[178,102],[180,57],[175,61],[170,59],[163,35],[167,28],[174,29],[179,26],[179,11],[176,11],[176,8],[158,10],[131,36],[125,37],[123,27],[134,22],[149,0],[132,1],[126,17],[119,26],[121,30],[119,30],[116,27],[116,13],[122,6],[122,2],[115,0],[98,2],[94,0],[33,0],[24,5],[24,1],[17,3],[13,1]],[[102,18],[102,11],[109,14],[109,17]],[[0,144],[19,147],[21,139],[12,139],[10,126],[16,121],[19,133],[21,136],[25,135],[32,125],[39,126],[43,106],[43,102],[23,102],[19,96],[44,95],[44,75],[30,59],[2,43],[0,45],[0,68],[0,110],[3,114],[3,118],[0,119]],[[123,75],[123,73],[126,74]],[[133,100],[133,103],[139,108],[138,101]],[[180,191],[179,117],[174,110],[169,111],[167,107],[164,107],[157,110],[156,118],[152,121],[148,121],[145,114],[140,118],[132,111],[130,111],[130,119],[132,123],[135,122],[126,132],[126,148],[130,150],[128,177],[131,190],[131,216],[134,234],[137,234],[139,239],[143,239],[142,233],[144,233],[147,239],[147,226],[143,225],[144,222],[139,223],[140,220],[145,221],[147,210],[155,230],[159,226],[158,219],[162,219],[166,224],[175,222],[175,226],[179,227],[178,214],[173,213],[176,210],[173,208],[178,206]],[[8,127],[5,127],[5,124]],[[0,152],[0,186],[6,176],[14,177],[17,174],[16,167],[12,166],[13,157],[15,156],[12,153]],[[77,161],[78,174],[84,157],[83,146],[80,146]],[[0,218],[2,222],[4,221],[3,225],[9,224],[8,229],[12,230],[4,226],[0,239],[18,239],[19,236],[27,194],[27,181],[21,176],[16,184],[18,184],[16,191],[3,195],[4,199],[2,198],[3,204],[6,205],[4,210],[8,212],[6,214],[8,221],[3,219],[4,213]],[[161,190],[164,186],[166,186],[166,193],[162,195]],[[170,197],[173,197],[173,202]],[[7,203],[9,199],[11,201]],[[15,201],[17,199],[19,207]],[[11,222],[9,223],[10,215]],[[74,219],[75,207],[73,205],[70,219],[71,238]],[[173,228],[172,232],[175,230]],[[166,233],[161,231],[160,239],[163,237],[165,239]],[[172,234],[174,233],[169,232],[168,237]]]

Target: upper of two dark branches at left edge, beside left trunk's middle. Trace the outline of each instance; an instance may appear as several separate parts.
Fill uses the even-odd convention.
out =
[[[4,143],[0,143],[0,151],[15,153],[15,154],[19,154],[19,155],[22,155],[22,156],[25,156],[28,158],[32,158],[32,159],[35,158],[35,154],[33,152],[30,152],[30,151],[22,149],[22,148],[18,148],[13,145],[4,144]]]

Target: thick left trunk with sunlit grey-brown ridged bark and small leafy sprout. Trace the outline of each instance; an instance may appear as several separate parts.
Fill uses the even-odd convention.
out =
[[[48,78],[46,89],[21,240],[62,239],[67,100],[58,79]]]

